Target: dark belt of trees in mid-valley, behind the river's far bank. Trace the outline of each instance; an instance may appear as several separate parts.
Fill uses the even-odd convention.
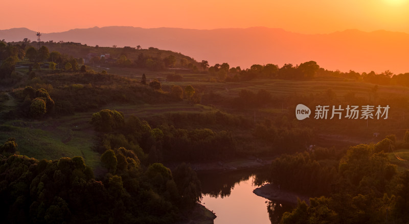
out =
[[[99,152],[125,146],[148,163],[212,161],[235,156],[236,142],[228,131],[187,130],[163,124],[152,128],[136,116],[124,119],[121,112],[108,109],[94,113],[91,123],[101,133]]]

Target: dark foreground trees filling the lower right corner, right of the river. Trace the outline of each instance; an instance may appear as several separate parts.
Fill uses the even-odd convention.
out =
[[[395,146],[394,140],[389,136],[344,153],[317,148],[274,160],[275,184],[318,196],[309,205],[299,201],[281,223],[406,223],[409,171],[398,171],[384,154]]]

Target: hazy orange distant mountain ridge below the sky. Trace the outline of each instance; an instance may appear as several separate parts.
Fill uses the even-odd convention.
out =
[[[26,28],[0,30],[0,39],[7,42],[24,38],[36,41],[36,31]],[[281,67],[284,63],[296,65],[314,60],[329,70],[409,72],[409,34],[383,30],[311,35],[265,27],[214,30],[94,27],[43,33],[41,41],[49,40],[92,46],[153,46],[180,52],[197,61],[207,60],[210,65],[228,62],[242,68],[267,63]]]

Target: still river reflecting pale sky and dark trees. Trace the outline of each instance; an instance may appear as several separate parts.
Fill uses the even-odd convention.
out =
[[[198,173],[202,183],[201,204],[216,214],[215,224],[279,223],[293,205],[271,202],[253,190],[266,183],[263,170]]]

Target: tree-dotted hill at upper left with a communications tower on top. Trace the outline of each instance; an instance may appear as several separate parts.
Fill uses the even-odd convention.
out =
[[[22,34],[19,34],[22,37]],[[12,50],[7,49],[7,45],[12,45]],[[40,42],[40,45],[47,48],[47,58],[44,60],[53,61],[56,63],[65,64],[69,58],[76,58],[80,63],[86,63],[92,66],[117,66],[117,67],[138,67],[147,68],[149,70],[166,70],[171,69],[185,69],[189,71],[196,71],[200,68],[200,64],[193,58],[167,50],[158,49],[156,47],[149,47],[143,49],[141,46],[125,46],[117,47],[116,45],[109,47],[89,46],[76,42]],[[10,55],[16,55],[20,59],[28,59],[30,62],[41,62],[37,58],[37,52],[33,54],[26,54],[27,49],[33,47],[38,48],[38,43],[31,41],[29,38],[21,39],[17,42],[0,41],[0,61],[6,59]],[[20,52],[18,52],[20,51]],[[18,52],[18,53],[10,53]],[[24,52],[24,53],[23,53]],[[56,53],[56,54],[53,54]],[[180,71],[180,70],[179,70]]]

